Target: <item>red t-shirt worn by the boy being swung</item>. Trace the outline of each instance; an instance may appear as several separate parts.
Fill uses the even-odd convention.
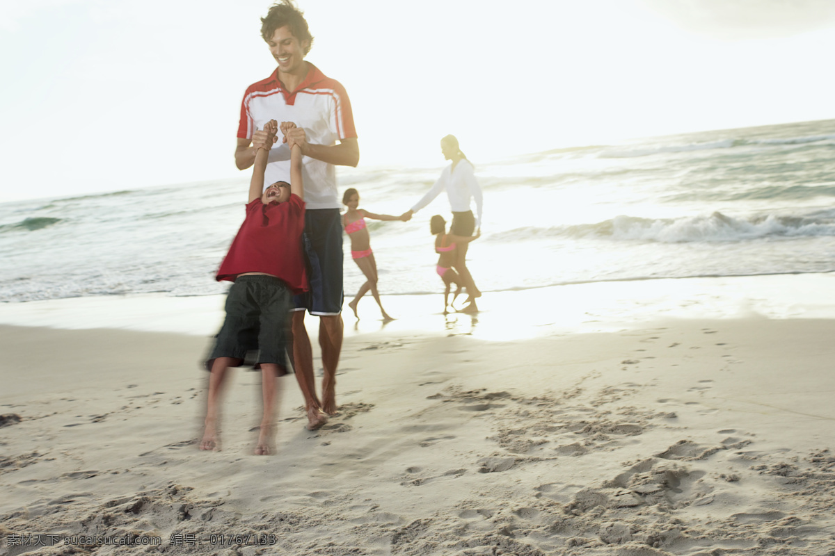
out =
[[[246,205],[246,218],[226,253],[217,279],[235,282],[238,274],[267,273],[281,278],[293,293],[307,291],[307,272],[301,253],[305,203],[291,195],[286,203]]]

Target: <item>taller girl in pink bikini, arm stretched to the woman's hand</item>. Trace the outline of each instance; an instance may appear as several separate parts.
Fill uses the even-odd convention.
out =
[[[369,213],[367,210],[357,208],[360,203],[360,194],[354,188],[345,191],[345,194],[342,196],[342,203],[348,208],[345,214],[342,215],[342,225],[345,226],[345,233],[351,238],[351,256],[354,259],[354,263],[357,263],[357,266],[366,277],[366,282],[360,286],[357,297],[351,303],[348,303],[348,307],[352,309],[354,316],[359,318],[357,314],[357,303],[360,302],[362,296],[370,289],[374,299],[377,301],[377,305],[380,306],[383,320],[393,320],[386,313],[386,310],[382,308],[380,294],[377,292],[377,262],[375,262],[374,253],[371,250],[371,237],[368,234],[365,219],[402,220],[403,218],[390,214]]]

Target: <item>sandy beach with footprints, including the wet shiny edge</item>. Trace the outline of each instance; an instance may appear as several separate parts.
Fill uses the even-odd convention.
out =
[[[245,369],[223,450],[196,448],[219,298],[5,303],[0,555],[835,554],[832,293],[577,284],[474,318],[389,296],[385,326],[369,301],[340,414],[306,431],[281,378],[271,457]]]

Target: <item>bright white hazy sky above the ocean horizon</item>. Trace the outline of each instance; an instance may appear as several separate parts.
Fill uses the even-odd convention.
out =
[[[237,177],[269,0],[12,0],[0,202]],[[835,118],[830,0],[298,0],[361,167]]]

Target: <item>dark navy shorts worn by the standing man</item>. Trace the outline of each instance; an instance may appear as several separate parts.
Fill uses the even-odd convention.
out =
[[[312,315],[342,313],[342,216],[338,208],[305,211],[301,235],[310,290],[296,295],[296,310]]]

